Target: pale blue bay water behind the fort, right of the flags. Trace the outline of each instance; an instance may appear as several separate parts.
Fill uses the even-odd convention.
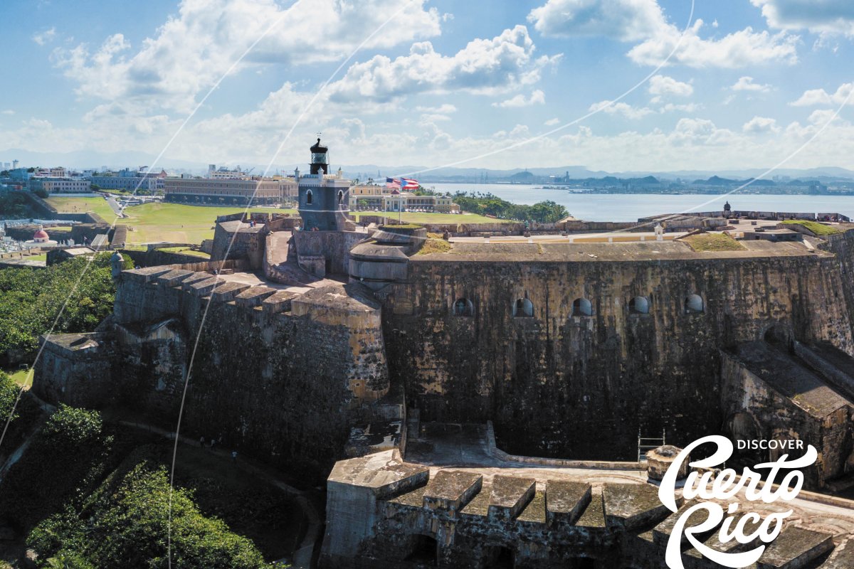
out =
[[[552,200],[586,221],[637,221],[658,213],[719,211],[726,201],[734,210],[741,211],[842,213],[854,218],[854,195],[572,194],[565,189],[522,184],[424,183],[424,186],[451,193],[491,193],[517,204]]]

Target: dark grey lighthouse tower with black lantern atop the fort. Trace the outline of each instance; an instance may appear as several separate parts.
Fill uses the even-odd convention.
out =
[[[350,181],[329,175],[329,148],[320,144],[312,148],[309,174],[295,172],[300,193],[300,217],[307,231],[342,231],[347,229],[350,212]]]

